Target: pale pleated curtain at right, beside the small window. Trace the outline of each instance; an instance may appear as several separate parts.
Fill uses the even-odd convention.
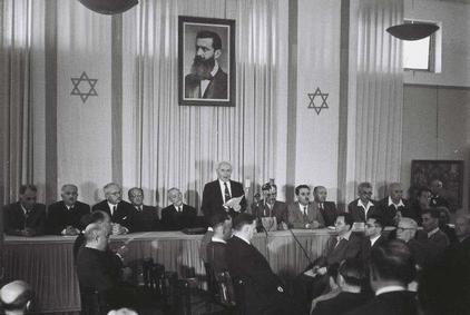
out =
[[[402,20],[402,0],[351,1],[346,200],[360,181],[374,184],[379,199],[400,180],[401,43],[385,29]]]

